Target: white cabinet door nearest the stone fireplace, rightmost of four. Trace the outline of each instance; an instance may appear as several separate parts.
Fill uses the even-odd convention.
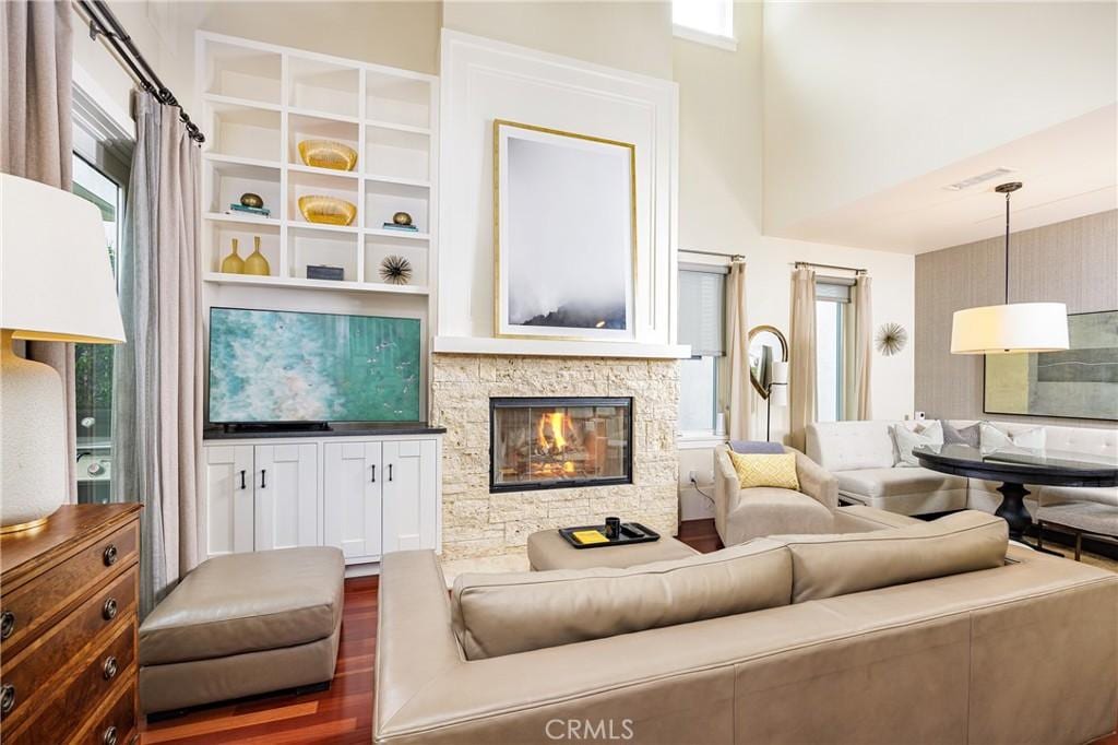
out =
[[[399,440],[383,444],[383,553],[435,548],[438,444]]]

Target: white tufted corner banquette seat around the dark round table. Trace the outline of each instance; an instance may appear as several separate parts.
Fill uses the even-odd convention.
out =
[[[982,479],[948,475],[923,468],[894,466],[897,453],[889,427],[913,428],[917,422],[817,422],[807,427],[807,455],[839,480],[839,496],[846,502],[866,504],[900,515],[929,515],[961,509],[993,512],[1002,501],[1002,484]],[[974,421],[951,421],[957,428]],[[1039,425],[991,422],[1016,434]],[[1044,425],[1050,451],[1118,458],[1118,430]],[[1118,488],[1035,487],[1025,504],[1036,515],[1039,504],[1091,501],[1118,507]]]

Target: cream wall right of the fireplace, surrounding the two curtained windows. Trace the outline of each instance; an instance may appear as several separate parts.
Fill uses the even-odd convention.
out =
[[[874,277],[873,324],[913,326],[912,256],[787,241],[762,235],[765,160],[762,49],[764,12],[769,6],[735,7],[738,50],[675,39],[672,60],[680,84],[680,251],[742,254],[748,264],[749,326],[768,323],[787,336],[790,272],[796,261],[865,267]],[[681,260],[714,261],[681,253]],[[913,409],[912,346],[894,357],[873,358],[871,389],[877,418],[902,418]],[[755,394],[754,437],[765,437],[764,402]],[[773,440],[787,433],[787,408],[773,409]],[[708,500],[688,484],[695,470],[704,491],[711,485],[710,446],[680,451],[683,518],[712,515]],[[709,493],[709,492],[708,492]]]

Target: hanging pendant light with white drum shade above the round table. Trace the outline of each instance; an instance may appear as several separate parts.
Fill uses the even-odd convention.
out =
[[[1010,195],[1021,182],[1003,183],[1005,195],[1005,303],[955,311],[953,355],[1008,355],[1068,348],[1068,307],[1063,303],[1010,302]]]

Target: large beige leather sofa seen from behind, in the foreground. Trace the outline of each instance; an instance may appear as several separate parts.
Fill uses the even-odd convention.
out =
[[[627,569],[381,565],[378,743],[1084,743],[1114,729],[1118,575],[1004,521],[841,508],[836,535]]]

